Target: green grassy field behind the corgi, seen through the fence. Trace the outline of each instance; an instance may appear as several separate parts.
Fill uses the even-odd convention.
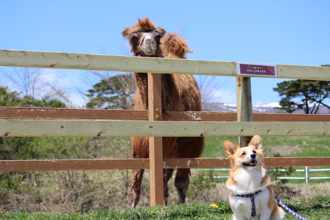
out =
[[[264,157],[330,157],[330,136],[287,136],[261,137]],[[202,157],[226,157],[223,151],[223,141],[238,143],[237,137],[206,137],[205,150]],[[308,169],[324,169],[330,167],[309,167]],[[294,167],[293,169],[305,169]],[[280,173],[281,174],[281,173]],[[213,172],[213,175],[228,175],[228,172]],[[285,174],[283,173],[283,176]],[[293,172],[290,176],[304,177],[304,172]],[[310,172],[309,177],[330,176],[329,171]],[[221,181],[221,180],[218,180]],[[304,183],[304,180],[288,180],[291,183]],[[315,179],[310,182],[328,182],[329,179]]]

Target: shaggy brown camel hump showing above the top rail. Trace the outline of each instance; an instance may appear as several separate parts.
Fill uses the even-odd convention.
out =
[[[186,53],[192,53],[188,49],[188,43],[180,35],[166,32],[166,36],[160,40],[162,52],[166,58],[186,59]]]

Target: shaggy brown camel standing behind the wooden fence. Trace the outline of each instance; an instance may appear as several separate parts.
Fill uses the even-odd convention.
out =
[[[188,44],[176,33],[168,33],[157,28],[149,18],[121,32],[129,41],[135,56],[186,58]],[[135,73],[137,92],[134,97],[135,110],[148,110],[147,73]],[[191,75],[161,75],[162,111],[201,111],[201,94],[196,80]],[[163,158],[196,158],[203,151],[203,137],[163,137]],[[149,138],[132,138],[133,158],[149,158]],[[139,201],[143,169],[133,170],[130,203],[135,207]],[[164,203],[167,205],[168,181],[173,169],[164,169]],[[174,185],[179,195],[179,203],[185,202],[185,193],[189,186],[190,169],[177,169]]]

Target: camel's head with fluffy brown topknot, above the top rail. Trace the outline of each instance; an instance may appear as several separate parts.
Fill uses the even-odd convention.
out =
[[[149,21],[149,17],[138,19],[138,23],[121,31],[122,35],[129,41],[131,51],[135,56],[159,57],[160,38],[164,36],[165,30],[157,28]]]

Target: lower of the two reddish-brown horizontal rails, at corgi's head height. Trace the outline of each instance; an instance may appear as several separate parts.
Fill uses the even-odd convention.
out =
[[[266,157],[266,167],[330,166],[330,157]],[[164,159],[163,168],[230,167],[228,158]],[[0,160],[0,172],[149,169],[149,159]]]

